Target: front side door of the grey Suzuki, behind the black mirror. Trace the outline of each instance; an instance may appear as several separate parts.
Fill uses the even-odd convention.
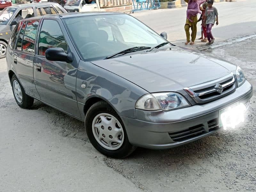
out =
[[[65,28],[61,21],[50,19],[42,21],[38,34],[38,52],[34,60],[36,89],[42,101],[71,115],[81,117],[76,100],[77,61],[70,64],[49,61],[45,58],[45,51],[48,48],[60,47],[67,52],[67,36],[64,36],[63,31]]]

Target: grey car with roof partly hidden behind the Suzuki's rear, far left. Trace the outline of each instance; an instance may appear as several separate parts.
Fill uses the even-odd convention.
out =
[[[6,47],[10,39],[12,30],[19,20],[31,17],[65,13],[57,3],[33,3],[33,4],[18,4],[6,7],[0,12],[0,58],[6,55]]]

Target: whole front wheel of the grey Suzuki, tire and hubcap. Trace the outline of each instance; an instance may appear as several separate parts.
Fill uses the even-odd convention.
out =
[[[95,124],[95,122],[98,123]],[[112,122],[112,125],[110,122]],[[128,140],[121,118],[105,101],[98,101],[89,108],[85,116],[84,124],[87,136],[92,145],[105,156],[124,158],[129,156],[136,149]],[[98,128],[94,125],[97,125]],[[105,125],[105,127],[103,125]],[[111,127],[113,127],[113,129]],[[115,137],[117,134],[119,134],[119,136]],[[101,139],[99,139],[100,137]],[[120,143],[115,143],[113,140]],[[110,145],[108,145],[107,142],[109,142]]]

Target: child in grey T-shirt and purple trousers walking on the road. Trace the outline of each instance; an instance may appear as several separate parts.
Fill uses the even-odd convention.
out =
[[[215,16],[217,18],[216,25],[219,24],[219,19],[218,19],[218,10],[213,7],[213,0],[208,0],[208,7],[206,8],[204,12],[204,26],[206,26],[206,33],[207,33],[207,39],[208,39],[208,45],[213,44],[215,38],[212,36],[212,26],[214,25],[215,22]]]

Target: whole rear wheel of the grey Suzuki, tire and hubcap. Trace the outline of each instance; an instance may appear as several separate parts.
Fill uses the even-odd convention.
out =
[[[23,89],[22,85],[20,84],[20,81],[15,75],[12,76],[11,82],[12,82],[12,93],[13,93],[14,99],[16,100],[16,103],[21,108],[26,108],[26,109],[30,108],[34,103],[34,98],[28,96],[25,93],[25,90]]]

